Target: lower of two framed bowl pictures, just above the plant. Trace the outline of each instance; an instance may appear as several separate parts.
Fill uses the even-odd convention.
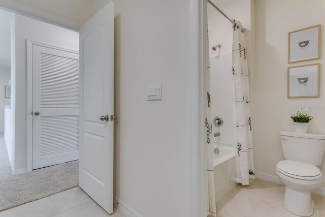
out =
[[[288,98],[319,97],[319,64],[288,67]]]

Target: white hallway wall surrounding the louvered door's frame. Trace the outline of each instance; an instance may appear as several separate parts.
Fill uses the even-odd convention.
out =
[[[21,15],[14,15],[14,70],[12,72],[13,143],[15,170],[26,168],[26,39],[79,50],[79,33]],[[14,91],[15,90],[15,91]]]

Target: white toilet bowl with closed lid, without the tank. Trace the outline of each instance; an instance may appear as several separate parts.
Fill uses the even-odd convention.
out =
[[[284,208],[296,215],[311,216],[314,212],[311,191],[320,186],[321,171],[312,164],[284,160],[277,164],[276,173],[285,184]]]

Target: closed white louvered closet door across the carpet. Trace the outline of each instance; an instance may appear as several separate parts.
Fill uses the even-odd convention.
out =
[[[79,159],[79,53],[32,45],[32,169]]]

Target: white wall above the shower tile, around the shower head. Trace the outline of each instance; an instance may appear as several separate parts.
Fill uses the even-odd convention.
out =
[[[249,32],[251,30],[251,0],[232,1],[232,4],[220,4],[214,0],[215,5],[229,18],[236,19],[242,23]],[[222,1],[221,1],[222,2]],[[210,57],[218,55],[218,49],[213,51],[212,47],[221,44],[220,54],[232,52],[233,30],[232,23],[216,9],[208,14],[209,27],[209,53]]]

